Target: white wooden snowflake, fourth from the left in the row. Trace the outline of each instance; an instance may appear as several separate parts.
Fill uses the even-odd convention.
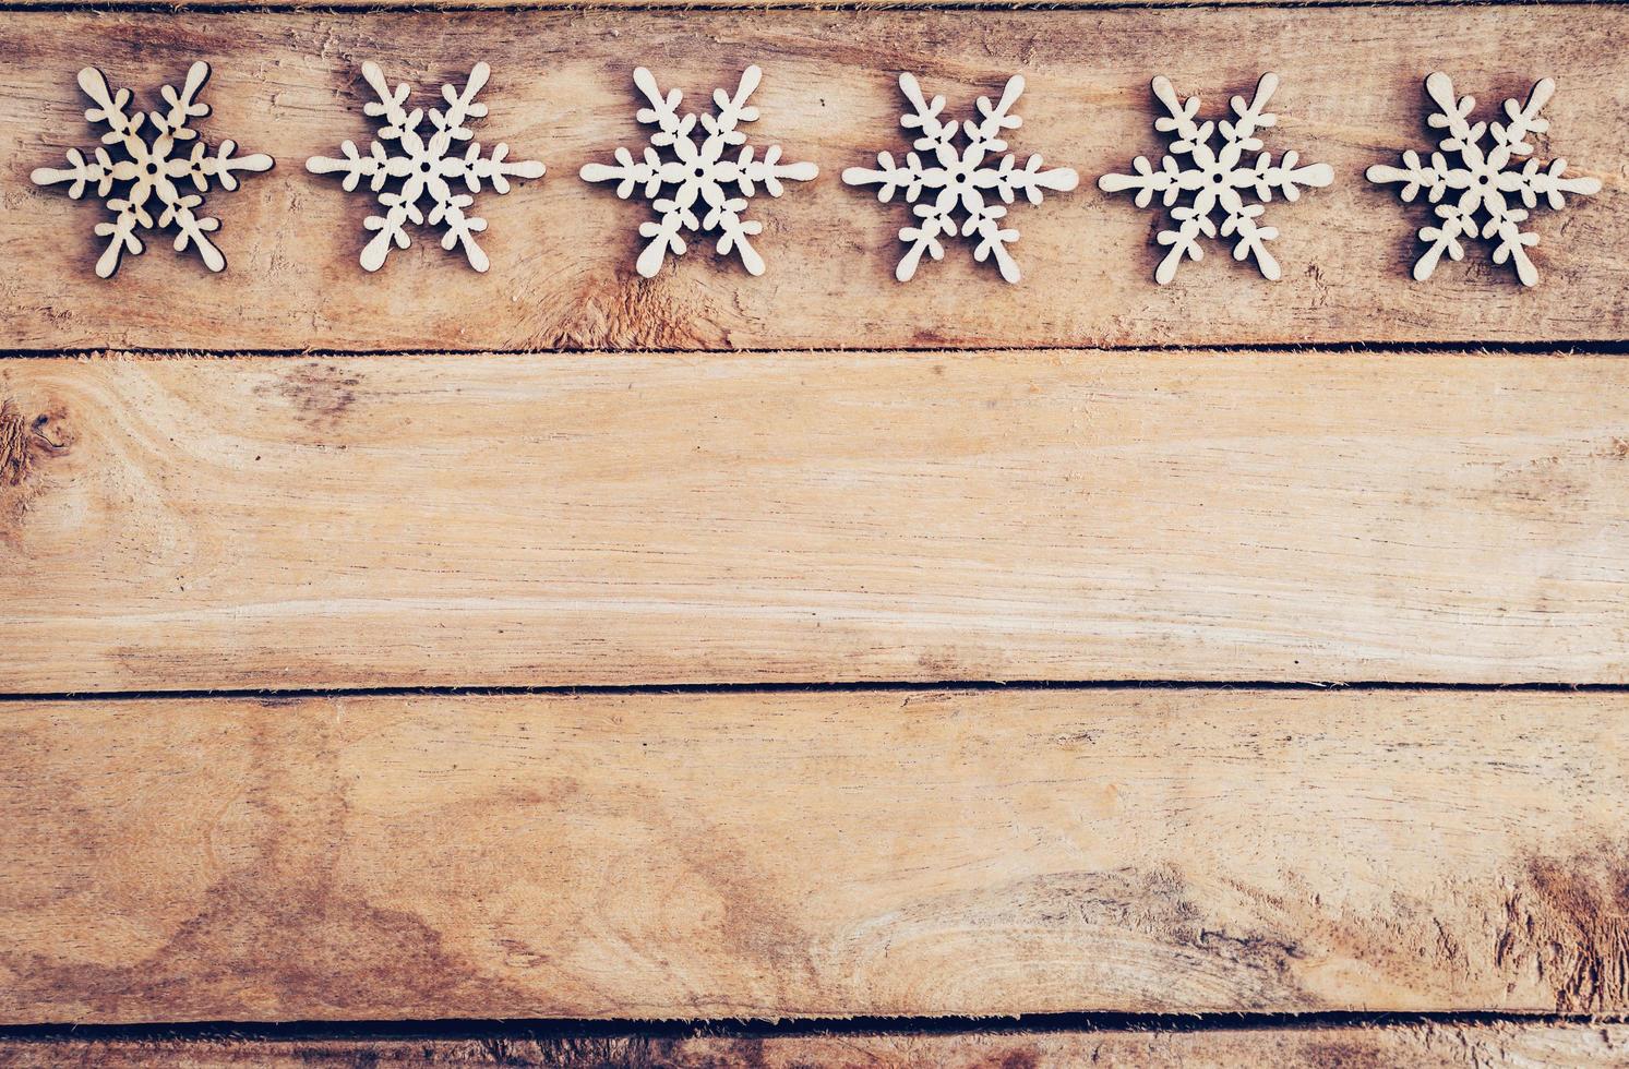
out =
[[[885,204],[896,191],[904,191],[906,204],[914,205],[917,223],[899,231],[899,240],[911,248],[899,257],[894,277],[909,282],[922,262],[922,253],[943,259],[945,246],[940,238],[961,235],[977,238],[973,246],[974,261],[982,264],[995,256],[1002,277],[1018,282],[1018,262],[1007,251],[1018,240],[1018,231],[1002,225],[1007,205],[1020,192],[1030,204],[1041,204],[1043,191],[1069,192],[1080,184],[1080,176],[1070,168],[1043,171],[1039,155],[1018,166],[1018,158],[1007,152],[1002,134],[1023,125],[1023,119],[1012,114],[1023,95],[1023,77],[1008,78],[1000,103],[994,106],[990,98],[981,96],[977,108],[984,117],[977,122],[940,119],[945,98],[925,99],[922,86],[909,72],[899,75],[899,88],[912,108],[899,116],[899,125],[922,132],[911,145],[915,152],[906,153],[902,163],[894,163],[893,155],[880,152],[876,169],[849,168],[842,173],[842,181],[850,186],[880,186],[876,199]],[[961,148],[956,147],[958,134],[966,139]],[[917,152],[932,152],[932,163],[924,165]],[[919,202],[924,194],[932,197]]]

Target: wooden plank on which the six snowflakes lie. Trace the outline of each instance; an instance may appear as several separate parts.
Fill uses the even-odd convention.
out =
[[[1113,8],[1074,11],[485,11],[485,13],[11,13],[0,57],[0,161],[16,176],[0,213],[0,345],[212,350],[762,349],[981,345],[1210,345],[1372,341],[1629,337],[1629,8],[1621,5],[1396,5],[1375,8]],[[156,243],[112,284],[91,274],[93,205],[24,178],[91,140],[73,75],[83,42],[117,85],[158,86],[184,64],[215,65],[215,139],[277,156],[277,169],[220,196],[231,267],[212,277]],[[1521,41],[1512,52],[1510,41]],[[472,55],[494,81],[482,139],[551,173],[482,196],[494,269],[479,275],[420,241],[378,275],[357,266],[365,196],[306,174],[314,153],[370,135],[365,59],[430,96]],[[1535,57],[1541,57],[1536,60]],[[710,251],[655,280],[632,272],[647,210],[577,176],[639,145],[629,70],[704,101],[746,62],[766,70],[756,134],[821,166],[819,181],[761,209],[769,274]],[[1450,64],[1497,111],[1543,75],[1561,91],[1546,155],[1605,191],[1538,212],[1543,284],[1523,290],[1487,249],[1429,284],[1409,279],[1424,207],[1404,207],[1363,169],[1430,147],[1422,77]],[[1535,65],[1538,64],[1538,65]],[[1083,189],[1015,209],[1026,280],[1003,284],[963,248],[899,285],[899,205],[839,181],[845,166],[902,152],[899,65],[951,106],[1023,72],[1015,148],[1077,168]],[[1163,142],[1148,80],[1168,73],[1225,111],[1266,67],[1282,75],[1269,148],[1326,161],[1336,184],[1271,205],[1287,277],[1269,284],[1225,249],[1152,282],[1158,217],[1095,178]],[[733,83],[731,83],[733,85]],[[425,88],[428,86],[428,88]],[[178,316],[174,310],[186,308]]]

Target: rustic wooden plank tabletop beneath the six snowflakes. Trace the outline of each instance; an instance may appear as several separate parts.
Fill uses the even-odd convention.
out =
[[[1629,8],[150,7],[0,11],[0,1066],[1629,1064]],[[277,166],[98,279],[29,171],[194,59]],[[368,59],[489,272],[357,266]],[[762,277],[578,179],[639,64],[764,68]],[[1363,179],[1437,68],[1559,83],[1535,288]],[[1018,285],[839,181],[901,70],[1080,173]],[[1334,183],[1158,287],[1264,70]]]

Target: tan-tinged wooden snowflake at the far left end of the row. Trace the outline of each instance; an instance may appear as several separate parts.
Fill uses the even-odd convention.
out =
[[[225,269],[226,257],[209,240],[210,233],[220,230],[220,220],[199,215],[197,209],[204,204],[210,179],[231,192],[238,187],[238,171],[269,171],[272,158],[262,153],[233,156],[238,145],[230,140],[222,142],[215,155],[209,153],[209,145],[192,129],[192,121],[210,111],[209,104],[197,99],[199,90],[209,81],[209,64],[192,64],[179,93],[171,85],[163,88],[168,108],[145,114],[125,111],[130,90],[109,91],[108,78],[94,67],[81,70],[78,81],[96,103],[85,111],[85,121],[108,125],[103,143],[90,160],[78,148],[70,148],[70,166],[36,168],[29,178],[36,186],[70,183],[68,196],[75,200],[94,187],[96,197],[112,212],[112,222],[96,223],[96,236],[109,238],[96,261],[96,274],[109,279],[119,271],[125,253],[142,254],[145,246],[137,236],[138,230],[165,227],[176,228],[178,253],[191,244],[204,257],[205,267]],[[143,127],[148,127],[147,135],[142,134]],[[181,148],[186,142],[194,142],[192,152]],[[114,160],[108,147],[116,147],[122,158]],[[184,192],[187,184],[192,192]]]

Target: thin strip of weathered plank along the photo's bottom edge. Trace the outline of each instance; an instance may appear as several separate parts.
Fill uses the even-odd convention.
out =
[[[1018,1032],[764,1038],[481,1040],[0,1040],[0,1066],[33,1069],[1609,1069],[1629,1066],[1629,1027],[1565,1023]]]

